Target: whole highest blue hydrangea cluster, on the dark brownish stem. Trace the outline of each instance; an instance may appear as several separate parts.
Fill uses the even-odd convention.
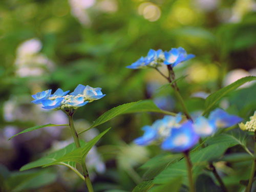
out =
[[[132,63],[131,66],[126,68],[130,69],[140,69],[147,67],[159,67],[162,64],[172,65],[172,67],[177,66],[180,62],[186,61],[188,59],[194,58],[195,55],[187,54],[185,49],[182,47],[172,48],[170,51],[162,51],[161,49],[155,51],[151,49],[148,51],[146,57],[140,57],[137,61]]]

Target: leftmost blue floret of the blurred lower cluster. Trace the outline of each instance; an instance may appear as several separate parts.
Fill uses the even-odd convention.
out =
[[[138,145],[148,145],[157,139],[157,130],[152,126],[143,126],[142,130],[144,131],[144,135],[135,139],[133,142]]]

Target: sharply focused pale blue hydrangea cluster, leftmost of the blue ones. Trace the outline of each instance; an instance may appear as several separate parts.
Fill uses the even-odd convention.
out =
[[[77,109],[80,106],[100,99],[105,95],[102,94],[101,88],[92,88],[90,86],[83,86],[78,84],[74,92],[63,91],[60,88],[57,89],[53,94],[52,90],[42,91],[32,95],[35,99],[32,102],[35,104],[42,104],[44,109],[53,110],[70,110]]]

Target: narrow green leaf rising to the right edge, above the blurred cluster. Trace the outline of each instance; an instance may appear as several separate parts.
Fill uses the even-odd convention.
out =
[[[205,100],[205,110],[203,112],[203,115],[206,114],[212,108],[212,106],[214,106],[216,102],[219,101],[222,97],[224,97],[227,93],[237,89],[238,87],[242,86],[242,84],[252,80],[256,80],[256,77],[255,76],[243,77],[237,80],[236,82],[229,84],[229,86],[226,86],[218,90],[217,92],[210,94]]]

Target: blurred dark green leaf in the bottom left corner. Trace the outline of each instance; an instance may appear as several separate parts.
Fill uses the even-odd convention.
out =
[[[25,191],[35,189],[47,184],[55,182],[57,179],[56,173],[49,169],[45,170],[30,170],[28,172],[15,172],[7,180],[10,192]]]

